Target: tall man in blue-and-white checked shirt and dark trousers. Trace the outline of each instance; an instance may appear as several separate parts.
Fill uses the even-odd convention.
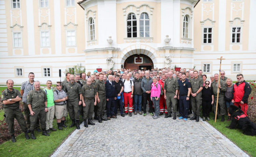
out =
[[[28,74],[28,78],[29,80],[28,81],[25,81],[22,83],[22,86],[20,88],[20,94],[22,95],[22,101],[23,101],[23,104],[24,104],[24,112],[25,112],[25,116],[27,117],[27,125],[28,125],[28,133],[30,133],[30,116],[29,116],[29,108],[28,108],[28,104],[27,104],[27,96],[28,96],[28,93],[30,90],[33,90],[35,89],[34,87],[34,78],[35,78],[35,75],[34,73],[30,72]],[[38,132],[41,132],[42,130],[40,130],[39,128],[39,118],[38,118],[38,121],[37,121],[37,124],[35,126],[36,130]]]

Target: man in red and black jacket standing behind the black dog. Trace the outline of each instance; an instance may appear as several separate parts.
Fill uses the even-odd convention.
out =
[[[247,116],[248,110],[248,97],[251,94],[252,88],[250,84],[244,81],[243,74],[237,74],[237,83],[234,84],[233,94],[234,98],[232,102],[237,107],[241,108],[244,114]]]

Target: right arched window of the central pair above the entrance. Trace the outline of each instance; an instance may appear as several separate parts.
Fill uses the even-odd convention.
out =
[[[146,13],[140,15],[140,37],[150,37],[149,18]]]

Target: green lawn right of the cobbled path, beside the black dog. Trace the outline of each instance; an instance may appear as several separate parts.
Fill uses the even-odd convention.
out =
[[[208,121],[215,129],[224,134],[230,141],[235,143],[240,149],[242,149],[247,154],[256,157],[256,136],[248,136],[242,133],[242,130],[239,129],[228,129],[226,126],[229,126],[231,121],[227,121],[228,116],[225,116],[225,122],[221,122],[221,116],[218,116],[219,119],[214,123],[215,115],[211,112],[210,118]]]

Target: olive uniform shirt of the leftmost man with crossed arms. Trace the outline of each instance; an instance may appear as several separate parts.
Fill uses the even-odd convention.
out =
[[[7,95],[6,95],[6,92],[7,91]],[[16,92],[15,92],[16,91]],[[19,98],[22,98],[22,95],[20,94],[19,90],[18,89],[12,89],[12,91],[10,91],[8,88],[5,89],[3,92],[2,92],[2,99],[1,101],[3,102],[4,100],[8,100],[8,99],[14,99],[16,97],[19,97]],[[3,105],[4,109],[12,109],[12,110],[16,110],[16,109],[19,109],[19,101],[13,103],[13,104],[9,104],[9,105]]]

